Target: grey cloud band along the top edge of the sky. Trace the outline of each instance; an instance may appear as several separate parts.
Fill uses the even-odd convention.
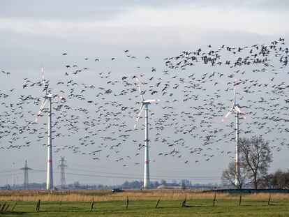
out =
[[[248,10],[288,10],[286,0],[181,0],[181,1],[21,1],[4,0],[0,3],[0,17],[25,17],[40,20],[110,20],[133,7],[172,8],[176,6],[212,8],[248,8]]]

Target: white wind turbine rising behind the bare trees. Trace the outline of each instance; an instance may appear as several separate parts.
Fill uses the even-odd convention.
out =
[[[233,105],[229,112],[225,114],[221,122],[225,121],[225,119],[232,113],[235,112],[236,117],[236,145],[235,145],[235,186],[238,186],[238,179],[239,179],[239,114],[243,114],[239,109],[239,104],[236,103],[236,86],[237,80],[235,80],[234,84],[234,100]],[[243,119],[246,119],[245,115],[243,114]]]

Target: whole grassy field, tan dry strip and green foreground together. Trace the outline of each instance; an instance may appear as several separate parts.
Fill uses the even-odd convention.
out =
[[[61,198],[65,200],[59,200]],[[15,200],[15,198],[22,200]],[[126,198],[128,197],[128,209]],[[181,207],[184,198],[187,207]],[[31,199],[30,201],[28,199]],[[91,201],[94,198],[94,209]],[[156,202],[160,198],[158,208]],[[40,211],[36,212],[36,202]],[[57,200],[52,200],[57,199]],[[71,199],[71,201],[68,201]],[[214,193],[193,193],[177,191],[148,191],[145,193],[129,191],[110,193],[108,191],[89,191],[73,193],[0,192],[0,204],[10,204],[6,213],[0,216],[289,216],[289,194],[260,193],[239,195],[218,193],[213,207]],[[77,201],[78,200],[78,201]],[[82,200],[82,201],[81,201]],[[17,205],[11,209],[15,202]],[[61,202],[60,202],[61,201]],[[1,209],[0,209],[1,210]]]

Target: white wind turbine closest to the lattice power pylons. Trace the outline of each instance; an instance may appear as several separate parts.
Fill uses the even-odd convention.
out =
[[[34,121],[34,124],[38,121],[40,117],[40,113],[42,112],[47,100],[48,100],[48,144],[47,144],[47,179],[46,179],[46,189],[50,190],[53,188],[53,170],[52,170],[52,98],[58,98],[62,99],[63,97],[59,95],[55,95],[50,93],[50,91],[47,91],[48,85],[45,84],[45,79],[44,79],[44,71],[43,68],[41,67],[41,72],[42,72],[42,82],[43,82],[43,91],[45,92],[45,96],[43,97],[43,101],[40,106],[40,110],[37,114],[37,117]]]

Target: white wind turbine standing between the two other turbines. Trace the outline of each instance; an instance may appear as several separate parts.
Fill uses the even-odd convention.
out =
[[[138,112],[138,116],[135,119],[135,125],[133,128],[136,128],[138,123],[138,119],[142,115],[142,111],[144,110],[144,188],[149,188],[149,104],[158,103],[161,101],[160,99],[154,100],[144,100],[142,96],[142,91],[140,90],[140,82],[138,81],[138,77],[136,77],[136,84],[138,86],[138,90],[140,91],[140,98],[142,101],[140,102],[140,112]]]

